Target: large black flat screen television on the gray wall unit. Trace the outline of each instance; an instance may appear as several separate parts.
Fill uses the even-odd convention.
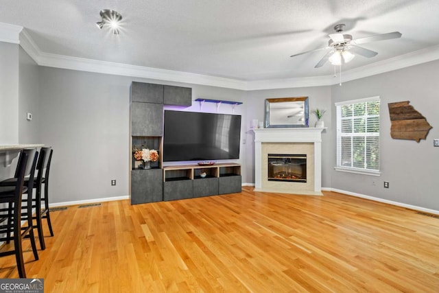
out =
[[[165,162],[239,159],[240,139],[240,115],[165,110]]]

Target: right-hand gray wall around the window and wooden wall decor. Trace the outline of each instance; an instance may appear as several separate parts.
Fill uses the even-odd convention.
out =
[[[381,97],[380,165],[381,176],[366,176],[337,172],[331,169],[331,187],[357,194],[383,198],[427,209],[439,210],[439,148],[433,147],[433,139],[439,138],[439,61],[428,62],[379,75],[344,82],[332,86],[332,112],[334,102]],[[433,128],[427,140],[397,140],[390,137],[388,103],[410,101]],[[336,125],[335,114],[332,125]],[[336,164],[335,130],[328,143],[331,149],[331,165]],[[390,183],[383,188],[383,181]]]

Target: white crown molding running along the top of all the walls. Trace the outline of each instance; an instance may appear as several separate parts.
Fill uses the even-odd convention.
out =
[[[189,84],[200,84],[206,86],[218,86],[227,89],[239,89],[243,91],[257,91],[266,89],[288,89],[309,86],[332,86],[340,82],[339,77],[333,75],[322,75],[305,78],[285,78],[276,80],[236,80],[232,78],[219,78],[211,75],[188,73],[183,71],[172,71],[167,69],[156,69],[152,67],[141,67],[126,65],[116,62],[77,58],[57,54],[49,54],[41,51],[32,40],[31,36],[23,27],[0,23],[0,41],[8,43],[19,43],[21,47],[40,66],[56,67],[78,71],[88,71],[112,75],[131,76],[133,78],[148,78],[153,80],[167,80],[171,82],[185,82]],[[388,71],[403,69],[425,62],[439,60],[439,45],[420,49],[408,54],[396,56],[387,60],[372,63],[363,67],[357,67],[343,71],[342,82],[366,78]]]

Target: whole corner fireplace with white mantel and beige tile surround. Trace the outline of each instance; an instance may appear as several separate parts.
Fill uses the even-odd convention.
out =
[[[322,130],[254,129],[254,190],[321,196]]]

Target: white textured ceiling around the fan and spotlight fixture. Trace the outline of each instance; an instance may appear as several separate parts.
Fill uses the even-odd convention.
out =
[[[102,9],[123,16],[121,34],[98,30]],[[315,69],[333,26],[353,38],[399,31],[362,45],[344,71],[439,45],[438,0],[0,0],[0,22],[25,27],[41,51],[233,78],[271,80],[331,75]]]

